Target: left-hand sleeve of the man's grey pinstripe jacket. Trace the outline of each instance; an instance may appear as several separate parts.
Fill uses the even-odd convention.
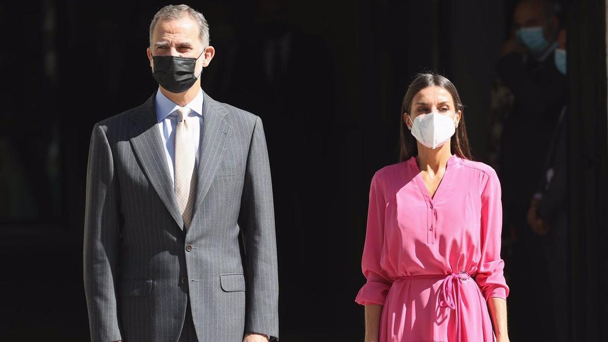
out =
[[[117,314],[117,180],[106,134],[95,125],[86,174],[84,281],[93,342],[122,340]]]

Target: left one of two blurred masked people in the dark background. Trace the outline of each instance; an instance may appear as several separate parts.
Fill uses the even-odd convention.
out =
[[[524,334],[530,330],[539,334],[533,339],[547,338],[542,330],[553,332],[553,319],[544,310],[551,305],[546,287],[529,286],[550,280],[542,240],[531,231],[527,212],[567,95],[565,75],[554,63],[559,22],[553,2],[518,2],[511,38],[503,45],[496,65],[500,83],[508,89],[505,98],[511,97],[504,102],[509,108],[503,112],[506,117],[497,158],[505,189],[505,227],[513,241],[512,286],[518,293],[511,309]]]

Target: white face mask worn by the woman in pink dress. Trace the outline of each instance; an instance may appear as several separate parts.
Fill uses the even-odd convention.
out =
[[[428,148],[442,146],[452,138],[455,131],[454,119],[437,112],[417,116],[412,120],[412,135]]]

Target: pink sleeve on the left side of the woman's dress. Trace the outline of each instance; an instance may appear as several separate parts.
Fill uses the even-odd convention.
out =
[[[379,184],[378,173],[371,179],[370,204],[367,211],[367,232],[361,260],[361,269],[367,282],[355,298],[361,305],[384,305],[392,281],[380,265],[384,245],[384,212],[386,201]]]

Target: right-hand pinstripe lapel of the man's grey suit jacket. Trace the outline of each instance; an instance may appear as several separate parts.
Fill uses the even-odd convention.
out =
[[[198,159],[198,186],[196,188],[195,207],[192,213],[192,222],[196,222],[196,217],[201,215],[202,200],[209,192],[209,187],[213,181],[213,176],[218,170],[221,161],[226,137],[230,130],[230,124],[226,122],[224,116],[228,113],[226,107],[213,100],[206,93],[202,102],[202,129],[201,147],[199,148]]]

